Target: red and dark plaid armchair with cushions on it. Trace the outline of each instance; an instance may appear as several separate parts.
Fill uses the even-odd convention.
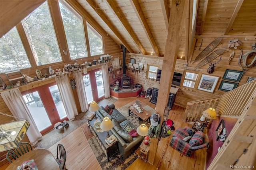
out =
[[[172,148],[188,157],[190,157],[196,150],[206,148],[209,145],[209,138],[206,134],[198,131],[193,135],[193,137],[189,137],[188,132],[190,130],[192,129],[188,126],[178,128],[172,135],[170,142],[170,146]]]

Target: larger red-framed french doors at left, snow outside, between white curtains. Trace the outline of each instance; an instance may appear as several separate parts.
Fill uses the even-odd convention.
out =
[[[41,134],[67,120],[56,82],[22,92],[22,96]]]

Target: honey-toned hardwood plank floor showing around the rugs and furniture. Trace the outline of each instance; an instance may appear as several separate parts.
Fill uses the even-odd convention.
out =
[[[116,108],[120,108],[134,100],[140,100],[148,106],[154,108],[155,104],[148,101],[148,98],[124,98],[114,102]],[[102,106],[104,104],[101,103]],[[169,113],[169,118],[174,121],[174,127],[185,127],[190,124],[182,121],[185,108],[174,105]],[[172,132],[173,133],[173,132]],[[206,161],[206,149],[197,150],[194,155],[189,158],[180,154],[177,150],[169,146],[171,135],[161,138],[158,143],[158,149],[155,156],[154,164],[144,162],[140,158],[135,160],[126,170],[204,170]],[[67,169],[68,170],[101,170],[88,141],[84,137],[81,128],[77,128],[72,133],[61,139],[58,143],[62,143],[67,151]],[[48,150],[56,156],[57,145],[53,145]],[[154,154],[151,153],[150,154]],[[1,165],[0,169],[4,166]],[[5,169],[5,168],[4,168]]]

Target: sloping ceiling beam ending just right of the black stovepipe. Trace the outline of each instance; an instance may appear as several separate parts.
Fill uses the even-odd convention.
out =
[[[116,35],[116,37],[122,42],[122,44],[124,45],[124,47],[126,47],[126,49],[130,52],[133,53],[132,48],[130,47],[130,45],[128,45],[128,43],[126,43],[126,41],[124,40],[124,38],[120,35],[120,33],[118,33],[118,31],[116,31],[116,28],[107,20],[107,17],[105,14],[103,14],[103,12],[101,12],[100,14],[98,13],[97,9],[100,9],[100,7],[97,6],[97,4],[94,3],[93,0],[86,0],[86,2],[88,2],[88,4],[92,7],[92,9],[98,14],[98,16],[106,23],[106,25],[108,25],[108,27],[111,29],[111,31]],[[94,21],[95,22],[95,21]]]

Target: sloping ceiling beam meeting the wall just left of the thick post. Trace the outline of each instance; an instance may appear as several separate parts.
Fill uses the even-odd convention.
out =
[[[154,40],[154,37],[148,27],[148,24],[147,24],[147,21],[146,21],[146,18],[144,17],[144,14],[142,12],[142,9],[140,8],[140,4],[138,3],[137,0],[130,0],[131,4],[132,4],[132,8],[134,9],[139,21],[140,21],[140,24],[142,25],[147,37],[148,37],[148,40],[150,41],[150,44],[152,45],[152,48],[154,50],[154,52],[156,53],[157,56],[160,56],[160,52],[158,50],[158,47],[156,45],[156,42]]]

